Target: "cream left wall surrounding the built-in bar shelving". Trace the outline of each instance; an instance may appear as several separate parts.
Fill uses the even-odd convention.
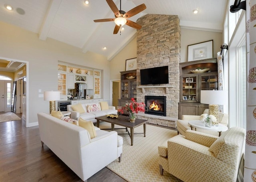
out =
[[[110,62],[95,53],[82,53],[80,48],[48,38],[38,39],[38,34],[0,22],[0,57],[28,61],[29,99],[28,126],[37,125],[37,113],[49,113],[49,102],[38,97],[38,89],[57,91],[58,60],[103,70],[102,96],[109,99]],[[41,94],[42,94],[41,93]]]

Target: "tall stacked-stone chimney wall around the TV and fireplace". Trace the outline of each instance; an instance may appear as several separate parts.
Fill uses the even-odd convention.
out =
[[[166,96],[166,118],[161,121],[154,115],[146,118],[149,123],[176,127],[180,100],[180,20],[175,15],[147,14],[137,23],[142,25],[137,31],[137,85],[140,86],[140,69],[168,65],[169,84],[160,85],[174,86],[167,88],[168,93],[165,87],[145,88],[144,93],[137,88],[137,101],[145,102],[145,95]]]

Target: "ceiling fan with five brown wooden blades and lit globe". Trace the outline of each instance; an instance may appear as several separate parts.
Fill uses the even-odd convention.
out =
[[[114,21],[116,26],[114,28],[113,34],[117,34],[120,27],[125,24],[132,28],[136,28],[137,30],[141,29],[141,27],[142,27],[141,25],[139,25],[131,20],[128,20],[127,18],[130,18],[130,17],[142,12],[143,10],[145,10],[146,9],[145,4],[140,4],[139,6],[132,8],[130,11],[128,11],[126,13],[121,10],[121,0],[120,0],[120,10],[118,10],[118,8],[116,7],[116,4],[113,2],[113,0],[106,0],[106,2],[108,3],[108,6],[112,10],[112,12],[114,12],[116,18],[99,19],[99,20],[94,20],[94,22],[112,22],[112,21]]]

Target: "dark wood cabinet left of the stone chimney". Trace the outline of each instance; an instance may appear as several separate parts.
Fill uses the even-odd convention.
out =
[[[121,71],[121,99],[118,99],[118,105],[124,107],[131,102],[131,98],[137,98],[137,79],[136,69],[130,71]],[[126,111],[124,111],[124,114]]]

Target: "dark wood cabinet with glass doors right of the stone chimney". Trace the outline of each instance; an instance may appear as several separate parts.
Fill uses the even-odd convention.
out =
[[[218,90],[216,58],[180,63],[179,119],[182,115],[201,115],[208,109],[207,104],[200,103],[201,90]]]

